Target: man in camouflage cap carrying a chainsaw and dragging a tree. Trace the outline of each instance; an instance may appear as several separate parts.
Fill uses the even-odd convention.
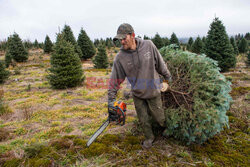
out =
[[[114,40],[120,40],[122,47],[113,63],[108,103],[112,106],[119,85],[127,77],[131,84],[136,113],[146,138],[143,147],[150,148],[155,139],[151,119],[165,127],[159,74],[164,78],[165,86],[162,87],[162,91],[166,91],[166,81],[171,81],[170,72],[152,41],[135,38],[134,29],[130,24],[121,24]],[[109,117],[111,121],[116,119],[111,110]]]

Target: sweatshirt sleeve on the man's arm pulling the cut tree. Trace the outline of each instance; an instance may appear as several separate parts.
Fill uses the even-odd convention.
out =
[[[153,44],[153,52],[154,52],[154,58],[155,58],[155,67],[156,71],[164,77],[165,80],[171,81],[172,77],[168,70],[167,63],[164,62],[160,52],[156,48],[156,46]]]

